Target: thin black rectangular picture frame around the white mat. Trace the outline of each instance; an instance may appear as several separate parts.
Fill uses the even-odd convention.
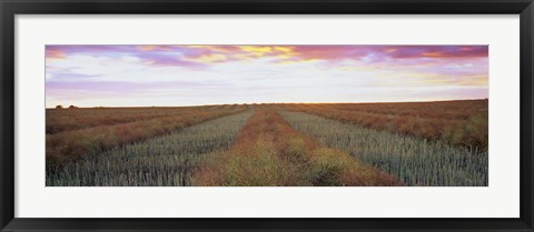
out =
[[[0,0],[1,231],[533,231],[532,0]],[[520,14],[521,216],[517,219],[14,218],[16,14]],[[500,199],[495,199],[500,201]]]

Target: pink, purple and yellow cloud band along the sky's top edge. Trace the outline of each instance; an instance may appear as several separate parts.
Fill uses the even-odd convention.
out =
[[[357,60],[395,63],[422,59],[487,58],[487,46],[47,46],[47,59],[67,56],[137,57],[147,65],[207,68],[210,63],[273,58],[276,63]],[[427,61],[426,61],[427,62]]]

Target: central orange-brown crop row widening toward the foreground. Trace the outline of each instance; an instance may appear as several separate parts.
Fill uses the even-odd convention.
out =
[[[195,185],[399,185],[395,178],[348,154],[320,147],[275,111],[257,110],[227,151],[215,152]]]

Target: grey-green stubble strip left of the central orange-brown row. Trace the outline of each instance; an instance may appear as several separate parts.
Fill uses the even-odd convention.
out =
[[[251,112],[117,147],[47,173],[48,186],[184,186],[206,153],[230,147]]]

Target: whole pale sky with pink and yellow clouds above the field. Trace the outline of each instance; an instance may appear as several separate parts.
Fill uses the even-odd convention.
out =
[[[47,46],[46,105],[488,97],[487,46]]]

